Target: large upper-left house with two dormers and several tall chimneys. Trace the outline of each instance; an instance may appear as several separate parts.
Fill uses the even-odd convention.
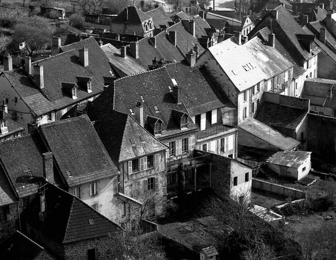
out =
[[[111,77],[108,58],[95,39],[61,49],[63,53],[38,62],[26,57],[24,69],[12,70],[12,59],[5,59],[9,69],[0,76],[0,98],[20,125],[59,120],[74,105],[95,99]]]

